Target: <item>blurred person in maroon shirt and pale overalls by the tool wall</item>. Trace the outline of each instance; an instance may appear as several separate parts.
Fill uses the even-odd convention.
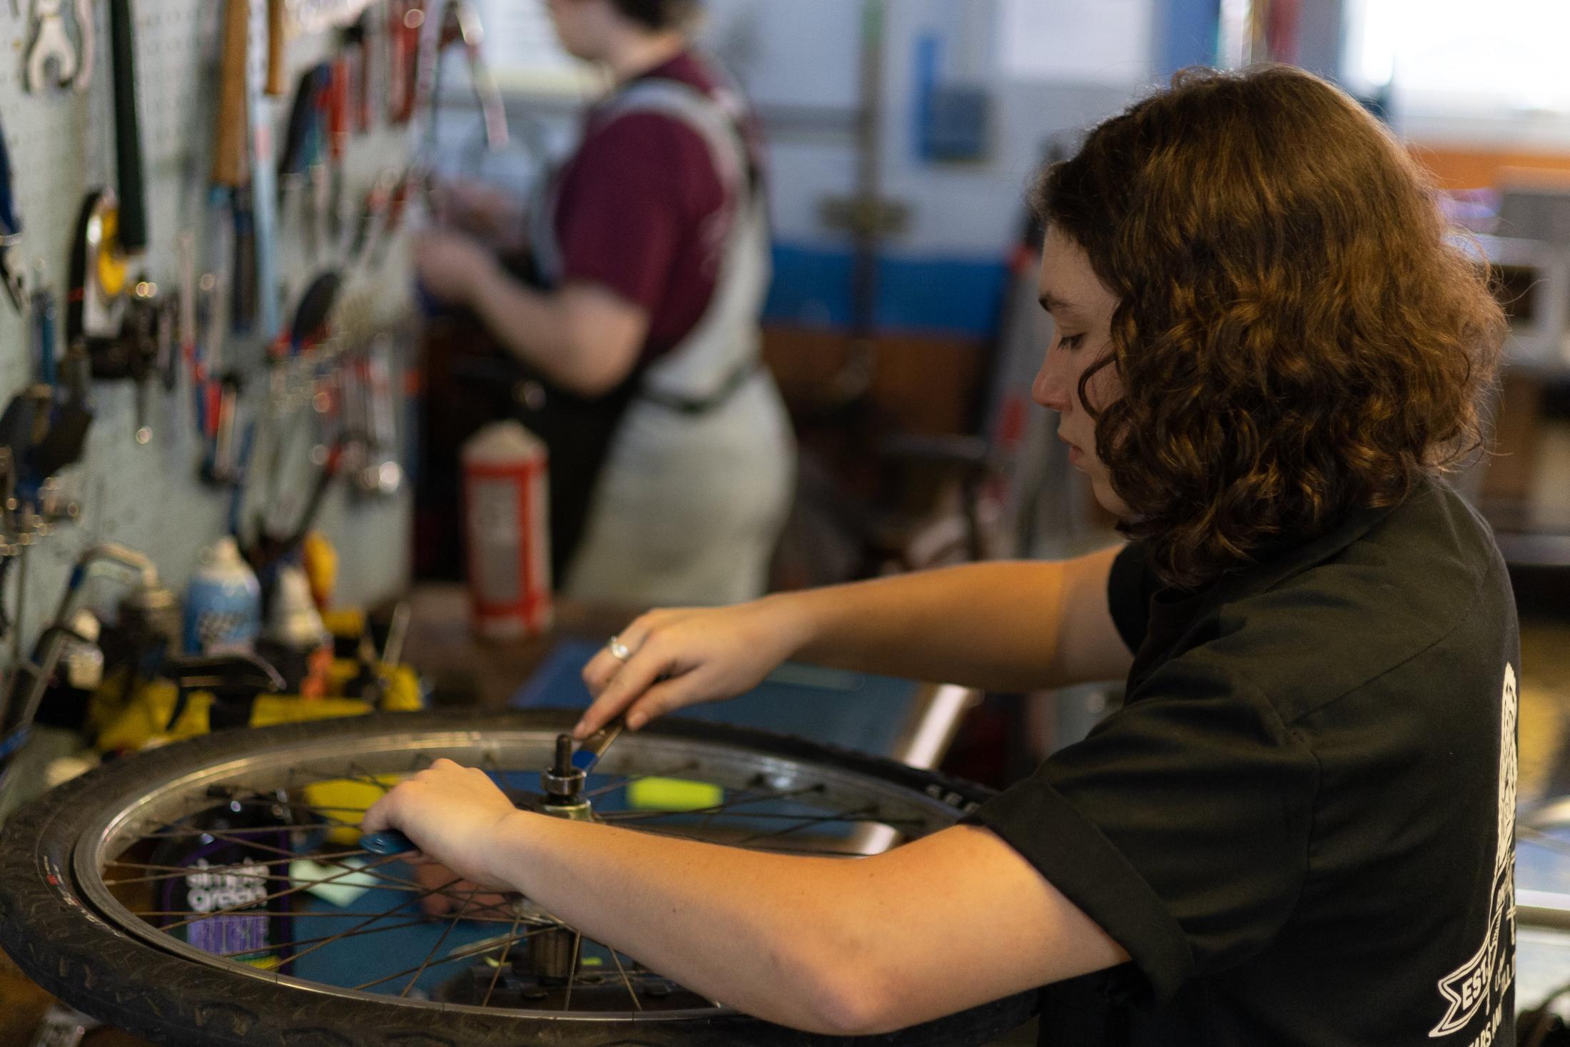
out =
[[[528,206],[447,187],[416,245],[425,292],[469,309],[531,377],[551,461],[556,581],[619,606],[758,596],[794,485],[760,358],[769,283],[761,141],[694,52],[699,0],[550,0],[611,94]],[[515,275],[502,256],[524,257]]]

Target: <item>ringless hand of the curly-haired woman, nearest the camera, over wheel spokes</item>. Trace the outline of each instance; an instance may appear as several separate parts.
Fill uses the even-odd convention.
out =
[[[419,848],[407,859],[413,865],[436,862],[473,885],[517,890],[490,868],[502,823],[513,816],[523,812],[488,774],[438,760],[377,801],[360,827],[367,834],[403,830]]]

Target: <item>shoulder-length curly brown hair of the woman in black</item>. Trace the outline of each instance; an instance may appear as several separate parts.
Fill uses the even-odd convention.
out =
[[[1430,177],[1300,69],[1179,72],[1044,173],[1039,218],[1119,300],[1096,452],[1196,589],[1482,446],[1504,312]],[[1090,410],[1086,407],[1086,410]]]

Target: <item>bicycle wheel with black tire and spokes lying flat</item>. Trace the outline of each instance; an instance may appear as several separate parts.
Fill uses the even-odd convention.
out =
[[[705,1000],[526,899],[430,887],[356,849],[358,812],[440,757],[529,804],[571,722],[375,716],[212,735],[104,766],[6,824],[0,947],[100,1020],[203,1047],[962,1047],[1035,1014],[1035,994],[1020,994],[889,1036],[812,1036]],[[598,818],[639,830],[854,859],[955,824],[986,790],[669,720],[623,735],[586,796]],[[443,895],[455,912],[424,915]]]

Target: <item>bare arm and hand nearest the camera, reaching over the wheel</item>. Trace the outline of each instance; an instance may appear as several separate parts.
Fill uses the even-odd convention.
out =
[[[367,832],[389,826],[465,879],[812,1033],[885,1033],[1127,959],[981,827],[868,859],[766,854],[520,812],[451,761],[366,815]]]

